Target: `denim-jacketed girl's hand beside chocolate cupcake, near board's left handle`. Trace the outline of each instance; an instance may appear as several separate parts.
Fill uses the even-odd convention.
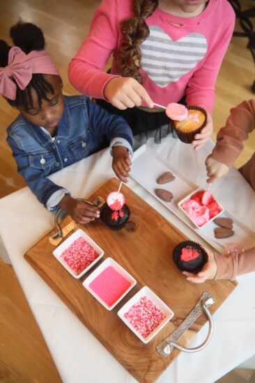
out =
[[[78,201],[68,194],[65,194],[61,199],[59,206],[65,209],[78,224],[88,224],[88,222],[100,217],[98,208],[88,205],[86,202]]]

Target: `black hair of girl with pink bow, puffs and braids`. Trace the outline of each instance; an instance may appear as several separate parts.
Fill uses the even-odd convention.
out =
[[[13,44],[16,47],[20,47],[25,54],[29,54],[33,50],[40,51],[45,48],[45,38],[42,30],[35,24],[29,22],[22,22],[20,20],[12,26],[10,28],[10,38],[13,40]],[[8,65],[10,48],[6,41],[0,40],[0,67],[6,67]],[[13,82],[15,82],[17,86],[16,98],[15,100],[8,98],[6,100],[15,108],[24,107],[25,110],[28,110],[29,107],[33,108],[32,88],[36,91],[39,107],[42,104],[42,99],[49,101],[47,93],[51,92],[52,95],[54,94],[52,84],[49,84],[49,82],[45,80],[44,75],[41,74],[33,74],[31,81],[24,91],[19,88],[15,79],[13,79]]]

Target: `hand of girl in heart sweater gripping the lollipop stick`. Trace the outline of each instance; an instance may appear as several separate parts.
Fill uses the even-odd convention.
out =
[[[121,110],[139,107],[143,101],[149,108],[154,105],[144,86],[132,77],[113,77],[105,85],[104,95],[114,107]]]

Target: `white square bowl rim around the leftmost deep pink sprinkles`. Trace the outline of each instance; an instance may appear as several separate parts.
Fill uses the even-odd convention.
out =
[[[92,248],[93,250],[95,250],[97,253],[98,253],[98,257],[95,258],[95,260],[93,260],[91,263],[89,263],[83,270],[82,272],[80,272],[80,274],[76,274],[74,269],[72,269],[72,267],[70,267],[68,265],[68,263],[65,262],[65,260],[63,260],[61,258],[61,255],[63,254],[63,252],[65,250],[68,249],[68,247],[71,247],[71,245],[79,239],[79,237],[82,237],[82,241],[86,241]],[[72,235],[70,235],[70,237],[68,237],[67,240],[65,240],[61,245],[59,245],[59,247],[57,247],[54,251],[53,251],[53,255],[56,257],[57,260],[59,260],[59,262],[61,263],[61,265],[63,265],[63,267],[65,267],[65,269],[70,272],[70,274],[72,276],[74,276],[76,279],[79,279],[81,278],[86,272],[88,272],[89,269],[91,269],[91,267],[93,267],[93,265],[95,265],[95,263],[98,262],[98,260],[100,260],[102,258],[102,256],[104,255],[104,251],[98,246],[98,244],[96,244],[93,240],[91,240],[91,237],[88,237],[88,235],[86,235],[86,233],[84,233],[84,231],[82,229],[78,229],[75,231],[75,233],[72,233]],[[75,254],[73,254],[73,256],[75,256]],[[86,251],[84,250],[84,258],[86,258]]]

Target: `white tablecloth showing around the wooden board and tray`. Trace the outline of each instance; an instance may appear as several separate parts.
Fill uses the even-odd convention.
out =
[[[160,145],[156,145],[153,139],[149,139],[147,144],[194,183],[201,187],[206,185],[204,160],[212,149],[211,141],[198,152],[171,137],[162,140]],[[112,176],[109,151],[103,150],[51,178],[69,189],[72,196],[85,198]],[[208,246],[137,182],[130,179],[128,186],[185,235]],[[238,171],[230,171],[213,186],[212,191],[226,210],[240,221],[249,223],[255,231],[255,193]],[[1,198],[1,253],[6,251],[6,257],[10,258],[63,382],[136,382],[24,260],[26,250],[53,226],[54,215],[47,212],[28,187]],[[215,330],[209,345],[194,354],[182,352],[157,382],[212,383],[255,354],[254,273],[238,277],[238,282],[238,287],[213,315]],[[199,331],[190,347],[202,343],[207,331],[208,325]]]

